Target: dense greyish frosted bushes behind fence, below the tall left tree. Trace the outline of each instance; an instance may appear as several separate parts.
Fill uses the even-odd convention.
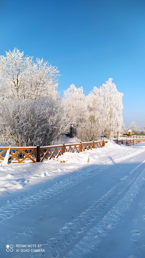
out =
[[[44,100],[3,102],[0,108],[1,142],[15,146],[52,144],[68,125],[60,109],[52,113]]]

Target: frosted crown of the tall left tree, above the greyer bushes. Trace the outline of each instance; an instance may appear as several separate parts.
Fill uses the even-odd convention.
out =
[[[32,56],[24,56],[17,48],[0,56],[0,97],[2,99],[38,99],[58,97],[57,67]]]

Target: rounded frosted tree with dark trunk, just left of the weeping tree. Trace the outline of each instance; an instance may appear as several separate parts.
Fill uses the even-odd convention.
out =
[[[74,124],[82,124],[88,117],[87,99],[83,94],[83,88],[76,88],[71,84],[67,90],[64,91],[63,105],[67,116],[71,120],[70,137],[73,137],[72,129]]]

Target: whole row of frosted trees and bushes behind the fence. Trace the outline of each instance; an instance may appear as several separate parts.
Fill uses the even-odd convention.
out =
[[[88,96],[71,84],[61,99],[60,71],[42,59],[24,56],[17,48],[0,56],[0,137],[4,145],[51,145],[75,128],[81,141],[121,132],[122,97],[109,78]]]

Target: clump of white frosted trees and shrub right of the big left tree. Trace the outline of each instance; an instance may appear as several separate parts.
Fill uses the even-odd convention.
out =
[[[117,136],[123,123],[122,97],[123,93],[118,92],[116,85],[112,83],[112,78],[109,78],[106,84],[100,88],[94,87],[87,97],[83,94],[82,87],[77,89],[74,84],[71,84],[64,91],[63,103],[66,113],[75,119],[78,137],[91,140],[93,131],[93,139],[97,140],[101,136],[102,130],[108,138],[111,134]],[[92,131],[89,131],[91,130],[91,123],[88,122],[90,115],[94,116],[97,121],[95,127],[92,127]],[[90,137],[84,130],[90,132]],[[95,138],[95,135],[96,137],[98,135],[98,138]]]

